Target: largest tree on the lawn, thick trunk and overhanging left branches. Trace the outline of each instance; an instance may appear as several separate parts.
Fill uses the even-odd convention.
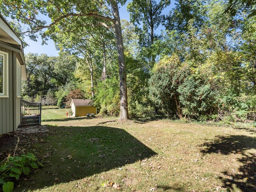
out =
[[[121,2],[125,3],[125,0]],[[57,28],[62,28],[68,24],[78,24],[70,23],[70,18],[82,18],[83,22],[81,23],[80,20],[80,24],[90,26],[114,24],[120,77],[120,120],[129,118],[124,48],[117,0],[101,0],[100,2],[96,0],[90,2],[81,2],[80,0],[72,2],[62,0],[0,0],[0,12],[27,24],[28,30],[26,32],[32,39],[37,38],[36,32],[38,31],[45,40],[51,37],[51,32]],[[52,22],[47,24],[45,20],[39,19],[40,14],[50,17]],[[43,31],[45,28],[48,30]]]

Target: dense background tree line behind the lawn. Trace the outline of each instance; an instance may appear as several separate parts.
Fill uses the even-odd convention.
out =
[[[128,2],[131,22],[122,21],[122,40],[130,117],[254,121],[255,3],[176,0],[162,14],[170,3]],[[101,114],[120,114],[116,34],[95,22],[71,17],[47,31],[60,54],[26,55],[25,95],[45,97],[50,90],[59,106],[92,98]],[[156,34],[159,26],[164,30]]]

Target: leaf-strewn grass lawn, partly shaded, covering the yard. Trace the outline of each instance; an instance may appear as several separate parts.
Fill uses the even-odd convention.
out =
[[[20,135],[17,153],[33,152],[44,167],[16,181],[14,191],[256,191],[253,126],[119,123],[66,112],[44,109],[50,131]]]

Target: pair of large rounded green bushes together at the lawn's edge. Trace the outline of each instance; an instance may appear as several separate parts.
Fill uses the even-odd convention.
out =
[[[205,121],[215,110],[216,93],[207,78],[192,70],[192,65],[175,55],[160,60],[149,80],[150,98],[168,115]]]

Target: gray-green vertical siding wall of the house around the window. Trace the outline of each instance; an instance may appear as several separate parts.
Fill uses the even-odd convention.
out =
[[[20,123],[20,98],[16,96],[16,54],[13,51],[0,47],[1,51],[9,55],[9,97],[0,98],[0,134],[16,131]],[[20,106],[20,105],[19,105]],[[19,122],[19,123],[18,123]]]

